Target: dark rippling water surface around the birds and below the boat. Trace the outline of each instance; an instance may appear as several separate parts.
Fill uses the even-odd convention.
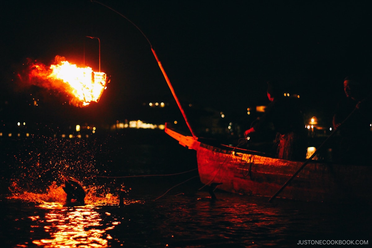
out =
[[[1,139],[1,247],[372,242],[370,206],[281,199],[268,203],[263,197],[218,190],[212,200],[199,181],[193,151],[163,131],[46,137]],[[69,175],[90,189],[86,206],[65,206],[61,178]],[[124,206],[119,206],[123,190]]]

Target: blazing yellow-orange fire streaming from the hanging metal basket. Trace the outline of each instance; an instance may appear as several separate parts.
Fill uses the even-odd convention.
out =
[[[47,81],[49,88],[64,90],[71,94],[73,96],[71,102],[78,106],[98,102],[109,83],[106,73],[93,71],[90,67],[78,67],[60,56],[55,57],[55,64],[49,68],[41,63],[32,64],[29,75],[31,78]],[[42,83],[39,82],[38,85],[40,84]]]

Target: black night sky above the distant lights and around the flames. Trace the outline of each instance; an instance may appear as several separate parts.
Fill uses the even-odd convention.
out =
[[[95,107],[117,118],[134,102],[174,102],[148,41],[182,102],[245,115],[247,106],[268,103],[266,81],[279,79],[309,112],[328,114],[343,94],[343,78],[371,68],[367,6],[368,1],[6,1],[0,10],[1,104],[17,96],[10,78],[27,58],[48,65],[60,55],[97,71],[98,41],[85,37],[94,36],[100,38],[101,70],[111,76]]]

